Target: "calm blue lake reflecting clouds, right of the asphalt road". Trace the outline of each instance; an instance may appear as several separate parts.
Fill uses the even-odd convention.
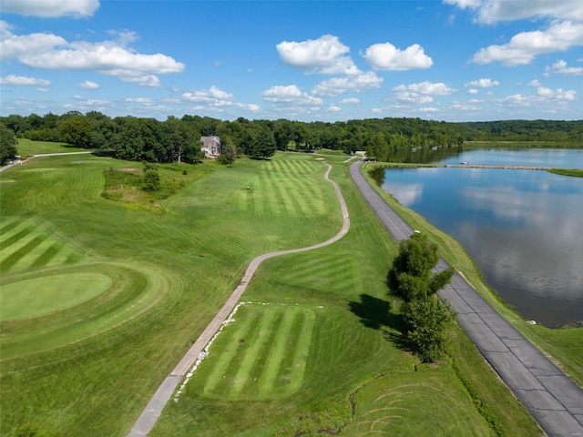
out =
[[[409,155],[407,162],[583,168],[583,150],[575,149]],[[549,327],[583,320],[583,178],[483,168],[380,168],[373,176],[457,239],[526,320]]]

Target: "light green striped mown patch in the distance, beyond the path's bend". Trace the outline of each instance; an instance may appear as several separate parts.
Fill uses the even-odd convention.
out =
[[[258,214],[316,217],[325,214],[322,164],[307,160],[273,160],[230,200]]]

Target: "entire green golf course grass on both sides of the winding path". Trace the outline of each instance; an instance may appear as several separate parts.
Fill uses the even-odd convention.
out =
[[[0,434],[36,423],[126,435],[251,259],[341,228],[318,158],[188,166],[155,210],[101,197],[104,170],[138,163],[36,158],[0,174],[0,297],[12,302],[0,309]],[[396,245],[337,159],[349,233],[261,265],[243,300],[286,305],[243,305],[151,435],[491,435],[487,414],[506,435],[539,435],[462,332],[455,368],[404,351],[384,285]],[[386,422],[393,401],[402,418]]]

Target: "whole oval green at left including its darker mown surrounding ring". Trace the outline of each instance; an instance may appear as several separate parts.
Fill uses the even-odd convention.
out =
[[[29,314],[28,319],[0,322],[2,358],[49,351],[96,336],[138,317],[152,308],[168,288],[162,274],[150,270],[139,271],[113,263],[77,264],[3,278],[0,281],[2,298],[5,292],[25,290],[24,286],[30,284],[44,282],[43,287],[53,286],[54,290],[46,290],[45,294],[36,296],[36,310],[42,310],[42,314],[37,311]],[[92,284],[95,289],[91,293],[95,296],[90,296],[91,293],[86,291],[81,296],[65,296],[64,300],[55,302],[56,294],[66,292],[59,288],[59,284],[62,285],[67,279],[73,281],[69,284],[69,291],[90,288],[87,279],[98,279],[100,283]],[[36,291],[41,290],[25,290],[26,294]],[[22,303],[24,300],[19,301]],[[48,308],[54,311],[47,313]],[[17,309],[12,310],[15,312]],[[3,319],[4,311],[5,308],[2,309]],[[21,309],[20,315],[24,315],[23,311],[26,309]]]

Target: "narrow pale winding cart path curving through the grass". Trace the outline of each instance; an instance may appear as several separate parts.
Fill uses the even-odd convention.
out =
[[[233,310],[235,305],[237,305],[241,294],[243,294],[243,291],[247,289],[247,286],[251,282],[251,279],[253,278],[255,271],[259,268],[261,262],[263,262],[265,259],[279,257],[280,255],[288,255],[291,253],[305,252],[307,250],[323,248],[324,246],[328,246],[333,242],[342,239],[343,236],[348,232],[348,229],[350,229],[350,219],[348,216],[348,208],[346,208],[346,202],[344,201],[343,194],[338,185],[333,180],[328,178],[330,171],[332,170],[332,166],[329,164],[325,165],[328,166],[328,169],[324,174],[324,178],[334,187],[336,196],[340,202],[340,208],[342,209],[343,213],[343,227],[340,229],[340,232],[332,237],[332,239],[328,239],[322,243],[314,244],[313,246],[309,246],[307,248],[279,250],[277,252],[266,253],[257,257],[256,259],[253,259],[245,271],[243,279],[240,280],[239,284],[237,287],[235,287],[235,290],[230,295],[229,300],[225,302],[215,318],[210,321],[207,328],[200,334],[199,338],[194,342],[189,351],[186,352],[186,355],[184,355],[174,370],[170,372],[164,381],[162,381],[158,390],[154,393],[154,396],[152,396],[148,402],[148,405],[146,405],[144,411],[139,415],[138,421],[134,423],[134,426],[128,433],[128,437],[148,435],[148,432],[151,431],[151,429],[154,427],[154,424],[158,421],[162,410],[168,403],[174,391],[179,386],[179,383],[184,379],[184,376],[188,373],[189,369],[198,359],[200,352],[203,351],[204,347],[210,341],[215,332],[219,330],[221,323],[227,319],[230,312]]]

